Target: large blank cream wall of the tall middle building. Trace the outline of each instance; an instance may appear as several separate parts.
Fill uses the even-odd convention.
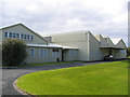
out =
[[[52,42],[63,46],[78,47],[79,51],[77,60],[89,61],[88,34],[89,32],[70,32],[52,36]]]

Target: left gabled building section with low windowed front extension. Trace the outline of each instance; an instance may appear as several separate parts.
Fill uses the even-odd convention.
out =
[[[78,59],[77,48],[49,43],[43,37],[34,32],[23,24],[12,25],[0,30],[0,38],[2,40],[20,39],[26,43],[28,54],[25,60],[26,64],[62,61],[62,50],[67,51],[66,56],[68,56],[72,51],[75,51],[76,54],[69,56],[68,60]],[[2,40],[0,42],[2,42]]]

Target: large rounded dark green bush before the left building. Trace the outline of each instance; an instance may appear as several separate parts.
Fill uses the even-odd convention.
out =
[[[24,63],[26,56],[26,44],[23,40],[6,39],[2,42],[3,65],[21,65],[22,63]]]

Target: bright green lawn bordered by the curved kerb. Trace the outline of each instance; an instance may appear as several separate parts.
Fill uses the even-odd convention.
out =
[[[16,85],[32,95],[128,95],[128,60],[34,72]]]

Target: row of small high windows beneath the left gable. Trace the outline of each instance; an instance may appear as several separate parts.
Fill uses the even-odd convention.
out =
[[[15,33],[15,32],[4,32],[4,38],[11,39],[23,39],[23,40],[32,40],[34,37],[30,34]]]

